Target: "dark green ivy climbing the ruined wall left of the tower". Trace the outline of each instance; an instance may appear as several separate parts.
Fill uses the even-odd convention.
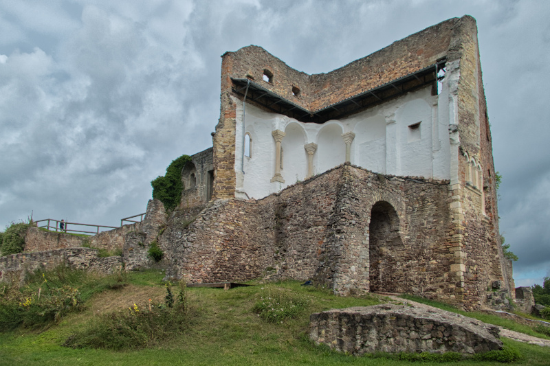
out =
[[[190,161],[191,157],[189,155],[181,155],[168,165],[164,176],[157,176],[156,179],[151,181],[153,198],[164,203],[166,211],[172,211],[179,205],[181,192],[184,190],[184,185],[181,182],[181,170]]]

